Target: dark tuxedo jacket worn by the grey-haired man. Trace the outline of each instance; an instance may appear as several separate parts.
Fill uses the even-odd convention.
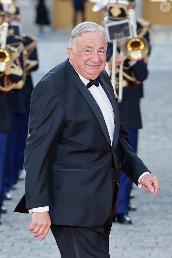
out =
[[[68,59],[34,88],[25,149],[26,192],[15,212],[50,206],[52,224],[99,226],[106,222],[112,204],[115,213],[121,163],[136,184],[148,171],[128,144],[105,71],[100,83],[114,111],[112,146],[98,104]],[[112,176],[116,176],[114,197]]]

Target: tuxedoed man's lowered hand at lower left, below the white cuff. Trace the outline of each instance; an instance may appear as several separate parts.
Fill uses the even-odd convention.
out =
[[[42,241],[48,234],[51,226],[51,219],[48,211],[33,212],[31,225],[29,231],[34,234],[35,237],[39,237],[39,241]]]

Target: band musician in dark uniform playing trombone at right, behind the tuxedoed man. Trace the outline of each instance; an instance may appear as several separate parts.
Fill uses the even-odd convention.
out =
[[[125,2],[125,1],[124,1]],[[119,8],[111,7],[109,8],[108,16],[104,18],[106,22],[118,21],[128,18],[128,9],[135,9],[135,1],[129,1],[129,4]],[[116,8],[116,10],[114,10]],[[116,14],[116,15],[115,15]],[[141,20],[141,23],[137,21],[137,35],[139,37],[144,37],[148,42],[148,49],[150,52],[150,39],[149,39],[149,23]],[[123,44],[125,41],[123,41]],[[138,129],[142,128],[141,121],[141,110],[140,110],[140,98],[143,97],[143,81],[148,76],[147,69],[147,57],[141,60],[130,60],[127,56],[120,55],[120,44],[117,42],[117,61],[116,61],[116,88],[119,84],[119,65],[121,61],[123,63],[122,71],[122,101],[119,103],[120,108],[120,119],[122,124],[125,126],[126,130],[130,135],[130,145],[132,148],[137,151],[137,139],[138,139]],[[108,43],[107,49],[107,64],[106,71],[109,73],[109,76],[112,71],[112,53],[113,53],[113,44]],[[118,89],[117,89],[118,92]],[[136,210],[135,206],[130,204],[130,192],[132,187],[132,181],[120,171],[120,190],[119,198],[117,205],[116,216],[117,221],[123,224],[131,224],[131,219],[128,216],[129,210]],[[115,218],[114,218],[115,221]]]

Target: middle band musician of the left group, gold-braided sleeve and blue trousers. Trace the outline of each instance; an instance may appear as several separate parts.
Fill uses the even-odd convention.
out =
[[[1,3],[1,10],[3,10],[3,3]],[[1,34],[5,35],[5,31],[9,29],[9,24],[6,19],[6,14],[13,13],[14,8],[2,12],[1,14]],[[15,10],[15,15],[17,12]],[[1,37],[2,44],[5,45],[10,54],[11,64],[0,72],[0,90],[6,94],[8,106],[11,113],[12,130],[8,132],[7,156],[5,165],[4,178],[4,198],[11,199],[9,193],[10,188],[17,182],[17,143],[20,135],[19,122],[25,113],[24,100],[20,92],[25,80],[25,50],[22,40],[16,35],[9,35],[9,33]],[[1,62],[1,67],[3,62]]]

